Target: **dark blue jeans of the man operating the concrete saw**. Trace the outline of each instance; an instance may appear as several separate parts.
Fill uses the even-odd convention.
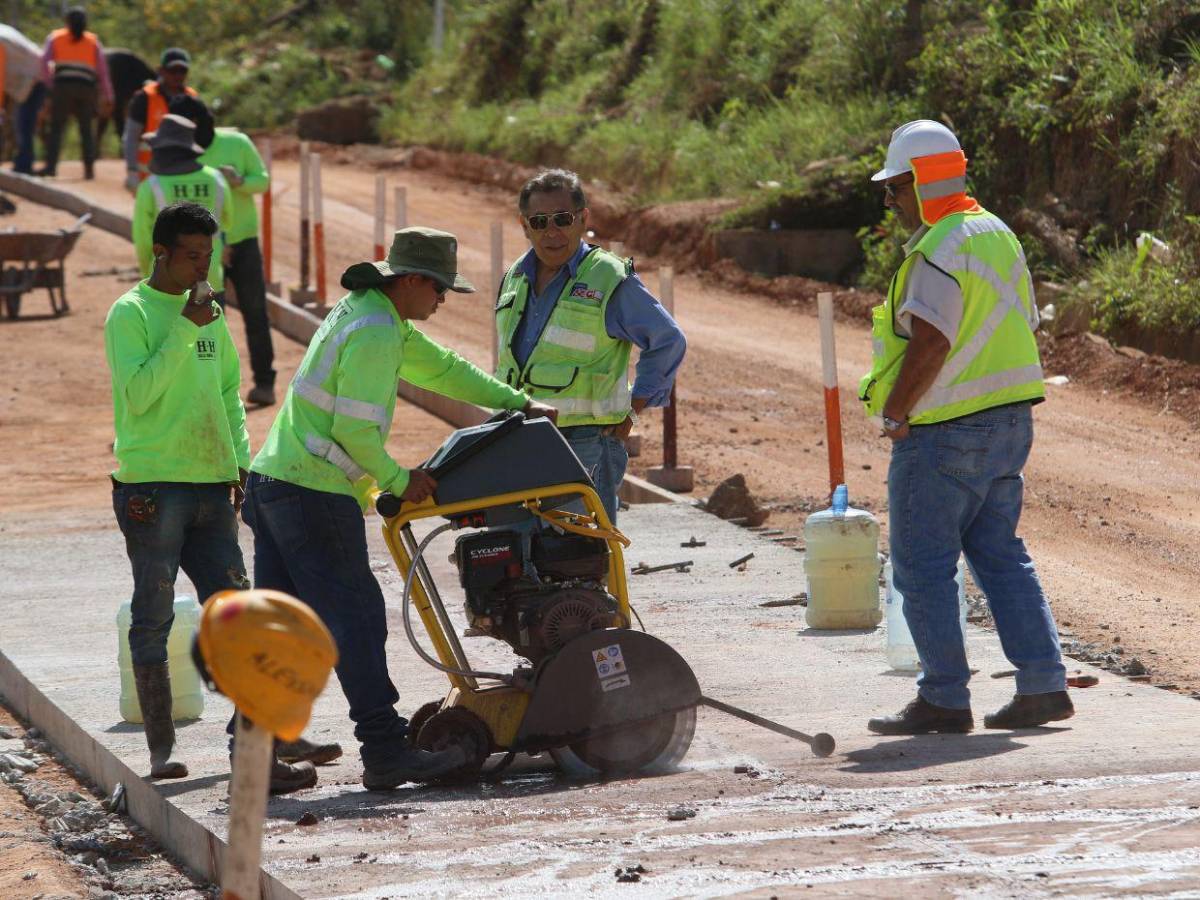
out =
[[[408,721],[388,674],[388,619],[371,574],[366,522],[353,497],[252,472],[241,516],[254,532],[254,587],[312,607],[337,644],[337,680],[362,760],[402,740]]]

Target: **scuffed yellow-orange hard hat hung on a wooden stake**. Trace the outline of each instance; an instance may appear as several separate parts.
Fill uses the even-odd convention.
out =
[[[337,664],[325,624],[281,590],[214,594],[197,642],[217,690],[281,740],[300,737]]]

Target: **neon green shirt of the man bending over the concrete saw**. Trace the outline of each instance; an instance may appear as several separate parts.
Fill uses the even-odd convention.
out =
[[[401,378],[491,409],[529,401],[431,341],[379,290],[355,290],[313,336],[251,470],[354,497],[364,510],[372,485],[402,493],[408,469],[385,446]]]

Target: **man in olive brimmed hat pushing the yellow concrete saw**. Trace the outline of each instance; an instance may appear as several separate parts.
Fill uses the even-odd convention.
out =
[[[325,317],[251,463],[242,517],[254,532],[254,584],[301,598],[337,642],[337,679],[361,743],[362,784],[389,790],[462,763],[457,750],[413,746],[388,674],[384,598],[371,571],[362,518],[378,485],[410,503],[437,484],[388,452],[396,383],[492,409],[554,410],[496,380],[413,324],[446,292],[472,293],[457,240],[432,228],[396,232],[386,259],[352,265],[349,290]]]

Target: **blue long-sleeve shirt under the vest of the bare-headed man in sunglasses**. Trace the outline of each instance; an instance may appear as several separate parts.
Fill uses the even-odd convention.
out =
[[[546,289],[536,295],[534,284],[538,283],[538,254],[530,248],[517,260],[522,274],[529,280],[529,300],[512,335],[512,355],[518,366],[524,367],[529,360],[563,288],[566,287],[569,278],[575,278],[580,263],[590,248],[588,244],[580,241],[575,256],[558,271]],[[648,407],[666,406],[671,400],[671,385],[674,383],[679,364],[683,362],[688,341],[671,313],[636,274],[625,278],[608,301],[605,310],[605,330],[610,337],[629,341],[641,350],[637,376],[634,379],[634,397],[644,398]]]

